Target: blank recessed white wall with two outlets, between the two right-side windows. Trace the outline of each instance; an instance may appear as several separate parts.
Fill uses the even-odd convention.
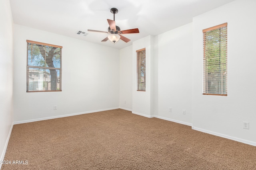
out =
[[[156,36],[158,117],[192,125],[192,23]],[[172,112],[169,108],[172,108]],[[182,110],[186,114],[182,114]]]

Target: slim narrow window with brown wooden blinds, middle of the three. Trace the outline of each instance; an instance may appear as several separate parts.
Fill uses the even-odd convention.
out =
[[[146,91],[146,48],[137,53],[137,91]]]

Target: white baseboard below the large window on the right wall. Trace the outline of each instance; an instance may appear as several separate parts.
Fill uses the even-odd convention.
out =
[[[192,126],[192,129],[194,129],[196,131],[204,132],[204,133],[209,133],[211,135],[223,137],[223,138],[226,138],[226,139],[231,139],[233,141],[238,141],[238,142],[245,143],[245,144],[248,144],[248,145],[256,146],[256,142],[253,142],[253,141],[247,141],[245,139],[240,139],[240,138],[237,138],[237,137],[224,135],[224,134],[221,134],[221,133],[216,133],[216,132],[213,132],[213,131],[208,131],[208,130],[201,129],[201,128],[198,128],[198,127],[193,127],[193,126]]]

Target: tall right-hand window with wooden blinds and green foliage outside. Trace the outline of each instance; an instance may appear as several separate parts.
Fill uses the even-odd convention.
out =
[[[203,30],[203,94],[227,96],[227,23]]]

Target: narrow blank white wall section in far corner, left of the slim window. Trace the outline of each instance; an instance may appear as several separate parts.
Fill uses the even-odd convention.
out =
[[[120,108],[132,111],[132,45],[120,50]]]

